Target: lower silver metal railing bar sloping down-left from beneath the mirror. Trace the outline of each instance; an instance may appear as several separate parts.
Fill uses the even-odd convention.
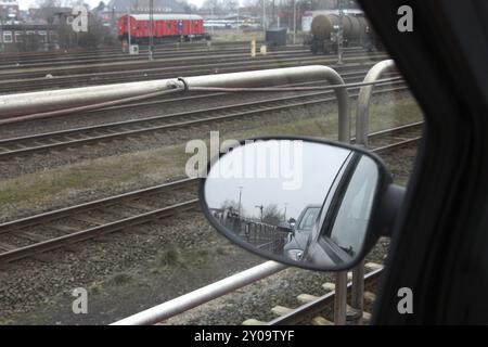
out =
[[[286,266],[267,261],[257,267],[231,275],[227,279],[211,283],[200,290],[177,297],[170,301],[152,307],[145,311],[133,314],[112,325],[150,325],[159,323],[168,318],[182,313],[204,303],[208,303],[220,296],[236,291],[251,283],[265,279],[271,274],[282,271]]]

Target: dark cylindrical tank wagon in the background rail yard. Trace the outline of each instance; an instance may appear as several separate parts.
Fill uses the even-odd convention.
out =
[[[336,53],[339,37],[341,16],[335,13],[317,15],[311,24],[309,37],[313,54]],[[368,51],[382,50],[380,39],[368,20],[361,14],[343,15],[344,47],[362,47]]]

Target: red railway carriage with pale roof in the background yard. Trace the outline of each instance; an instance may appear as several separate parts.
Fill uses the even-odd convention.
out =
[[[118,39],[125,43],[147,43],[151,35],[155,43],[210,39],[204,20],[194,14],[154,14],[153,29],[149,14],[124,15],[118,18]]]

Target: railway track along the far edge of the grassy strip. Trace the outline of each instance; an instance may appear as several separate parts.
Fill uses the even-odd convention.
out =
[[[352,98],[357,97],[358,90],[359,88],[350,89]],[[378,87],[375,93],[400,90],[407,90],[407,87],[402,82],[395,82],[393,87]],[[330,90],[5,139],[0,140],[0,159],[133,138],[159,131],[189,129],[216,121],[241,119],[262,113],[290,111],[334,101],[334,91]]]

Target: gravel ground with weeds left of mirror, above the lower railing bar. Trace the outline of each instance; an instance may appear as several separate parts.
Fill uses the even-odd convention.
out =
[[[0,323],[110,323],[259,261],[189,213],[9,266],[0,271]],[[88,316],[70,311],[76,287],[89,292]]]

